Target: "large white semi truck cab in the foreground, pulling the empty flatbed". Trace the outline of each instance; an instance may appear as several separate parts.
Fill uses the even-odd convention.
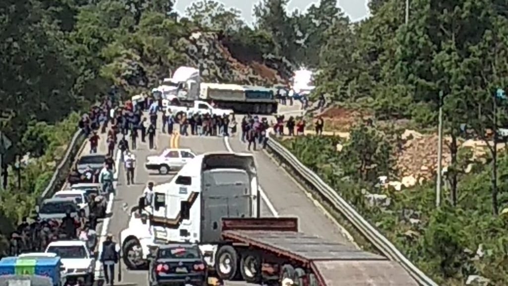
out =
[[[251,154],[198,155],[170,183],[154,186],[152,203],[140,197],[129,225],[120,233],[123,260],[130,269],[146,267],[152,247],[165,243],[199,243],[214,264],[221,241],[222,218],[260,215],[257,168]]]

